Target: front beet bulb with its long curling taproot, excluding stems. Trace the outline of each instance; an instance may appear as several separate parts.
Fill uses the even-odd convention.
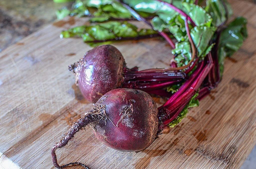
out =
[[[54,166],[64,168],[81,163],[60,166],[56,149],[68,144],[74,135],[86,126],[107,146],[121,151],[141,151],[157,137],[158,109],[152,97],[144,91],[118,88],[104,94],[84,116],[73,123],[68,132],[52,147]]]

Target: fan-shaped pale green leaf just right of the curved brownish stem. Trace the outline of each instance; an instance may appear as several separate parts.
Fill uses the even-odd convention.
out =
[[[215,27],[196,26],[194,27],[190,35],[194,41],[194,44],[198,50],[198,56],[201,56],[208,48],[212,35],[214,34]]]

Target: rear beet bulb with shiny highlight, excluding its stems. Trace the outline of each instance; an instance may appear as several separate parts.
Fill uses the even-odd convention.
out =
[[[69,66],[76,76],[76,84],[90,102],[95,103],[106,92],[121,86],[125,62],[122,54],[111,45],[88,51],[79,62]]]

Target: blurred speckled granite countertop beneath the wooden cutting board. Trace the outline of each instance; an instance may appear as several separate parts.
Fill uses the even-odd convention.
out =
[[[256,2],[256,0],[245,0]],[[0,1],[0,52],[29,34],[56,20],[55,11],[72,3],[58,4],[52,0]],[[241,168],[254,168],[256,147]]]

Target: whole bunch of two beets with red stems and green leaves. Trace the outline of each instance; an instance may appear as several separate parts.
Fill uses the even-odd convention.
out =
[[[72,10],[58,11],[59,18],[94,16],[90,21],[97,22],[63,31],[61,37],[80,36],[89,45],[98,46],[159,34],[173,48],[174,58],[169,68],[138,71],[137,67],[126,67],[115,47],[102,45],[70,65],[83,96],[96,103],[52,147],[55,167],[78,164],[88,168],[79,162],[60,166],[55,153],[86,126],[111,148],[144,150],[164,127],[177,125],[189,107],[198,106],[198,100],[217,86],[224,58],[236,52],[247,37],[246,19],[238,17],[227,25],[232,9],[226,0],[199,2],[77,0]],[[138,30],[126,22],[134,19],[152,29]],[[142,90],[169,99],[157,108],[151,96]]]

